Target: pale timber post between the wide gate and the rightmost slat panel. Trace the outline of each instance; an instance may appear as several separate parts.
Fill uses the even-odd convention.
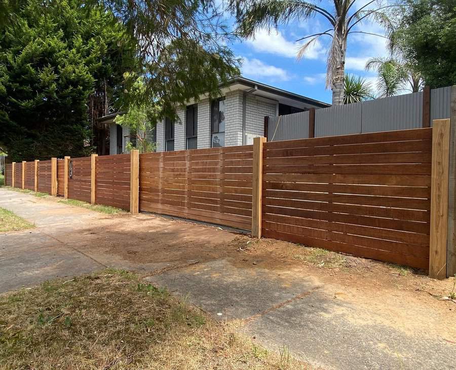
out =
[[[263,143],[265,137],[253,139],[252,237],[261,238],[261,202],[263,186]]]

